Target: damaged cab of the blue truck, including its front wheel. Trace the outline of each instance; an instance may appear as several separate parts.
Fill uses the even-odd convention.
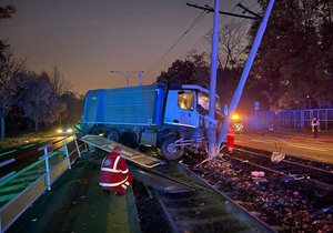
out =
[[[216,112],[219,112],[221,108],[218,95],[216,99]],[[185,149],[194,152],[205,149],[205,129],[210,122],[218,124],[215,119],[209,118],[208,112],[209,91],[206,89],[195,84],[183,84],[168,91],[163,126],[172,130],[172,133],[163,136],[160,145],[167,159],[180,158]]]

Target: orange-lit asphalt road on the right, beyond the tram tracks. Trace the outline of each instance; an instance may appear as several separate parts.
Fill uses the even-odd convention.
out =
[[[276,151],[276,144],[287,155],[333,164],[333,136],[330,135],[313,139],[301,133],[243,133],[235,134],[235,144],[272,152]]]

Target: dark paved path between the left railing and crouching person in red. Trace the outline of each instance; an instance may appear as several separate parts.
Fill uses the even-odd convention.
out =
[[[7,232],[138,232],[134,225],[139,222],[132,215],[135,211],[127,202],[131,193],[103,196],[99,171],[99,165],[81,159]]]

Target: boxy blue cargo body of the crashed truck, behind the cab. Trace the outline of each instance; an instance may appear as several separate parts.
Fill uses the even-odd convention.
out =
[[[164,91],[158,84],[90,90],[85,95],[83,122],[159,126]]]

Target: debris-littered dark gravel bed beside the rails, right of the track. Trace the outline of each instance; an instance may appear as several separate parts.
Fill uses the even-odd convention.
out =
[[[273,162],[281,162],[284,159],[281,146],[278,150],[272,154]],[[189,168],[194,166],[192,160],[182,162],[188,163]],[[204,161],[194,166],[193,171],[204,176],[213,186],[219,186],[221,192],[278,232],[333,232],[332,206],[317,211],[316,202],[321,199],[291,182],[306,176],[269,175],[263,171],[251,171],[251,165],[248,164],[226,158],[222,161],[218,158]],[[322,201],[320,203],[322,204]]]

